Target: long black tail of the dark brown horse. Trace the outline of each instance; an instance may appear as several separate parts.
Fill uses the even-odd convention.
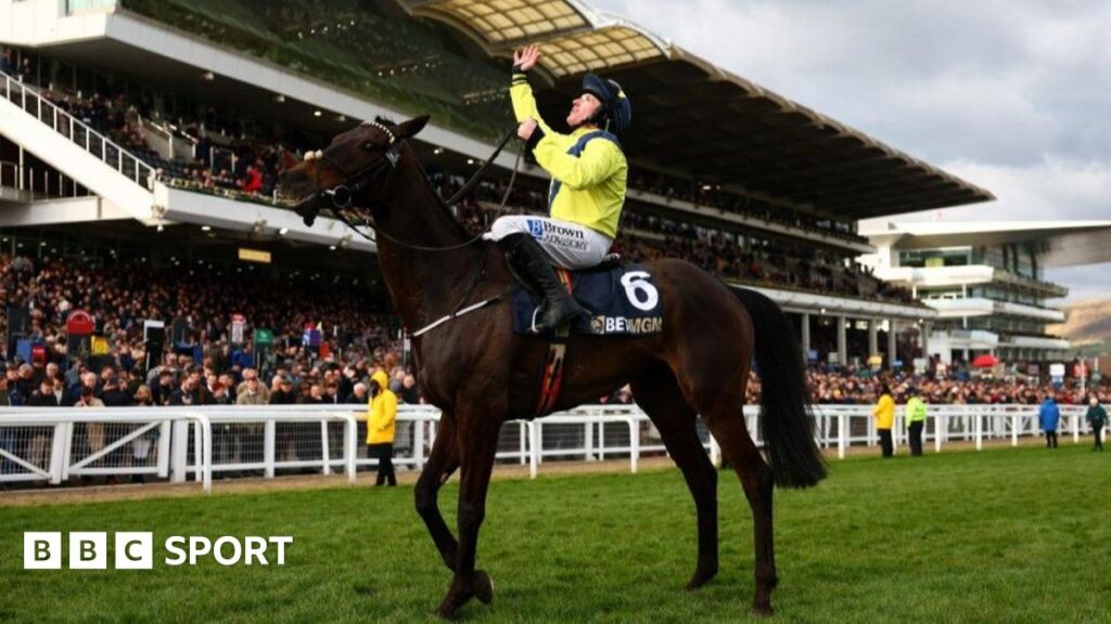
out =
[[[802,350],[787,314],[759,292],[733,289],[752,316],[760,373],[760,437],[780,487],[810,487],[825,477],[814,442],[810,389]]]

